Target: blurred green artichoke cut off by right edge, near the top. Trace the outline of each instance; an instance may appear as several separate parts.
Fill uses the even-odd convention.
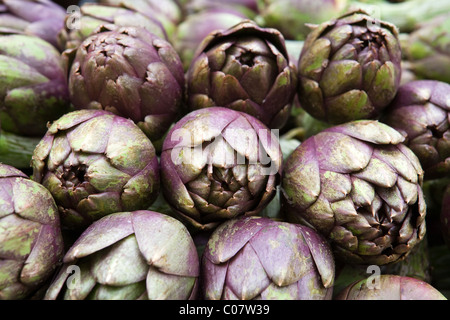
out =
[[[409,34],[402,50],[417,76],[450,83],[450,14],[421,25]]]

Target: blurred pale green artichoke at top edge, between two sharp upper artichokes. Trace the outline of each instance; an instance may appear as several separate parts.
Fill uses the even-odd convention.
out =
[[[281,31],[286,39],[304,40],[311,29],[340,15],[348,0],[257,0],[259,19],[266,27]],[[259,21],[259,20],[258,20]]]

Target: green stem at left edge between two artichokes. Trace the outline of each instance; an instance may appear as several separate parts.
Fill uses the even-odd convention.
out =
[[[0,163],[17,169],[30,168],[31,157],[40,140],[40,138],[22,137],[1,131]]]

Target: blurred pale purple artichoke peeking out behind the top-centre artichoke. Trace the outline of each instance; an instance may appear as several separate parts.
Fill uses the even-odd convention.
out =
[[[178,25],[173,41],[184,69],[189,69],[197,48],[211,32],[229,29],[246,19],[245,15],[232,9],[209,9],[188,15]]]

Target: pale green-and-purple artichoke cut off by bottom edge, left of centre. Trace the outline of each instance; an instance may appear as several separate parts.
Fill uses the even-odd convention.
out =
[[[120,212],[89,226],[64,256],[45,300],[192,300],[200,263],[178,220]]]

